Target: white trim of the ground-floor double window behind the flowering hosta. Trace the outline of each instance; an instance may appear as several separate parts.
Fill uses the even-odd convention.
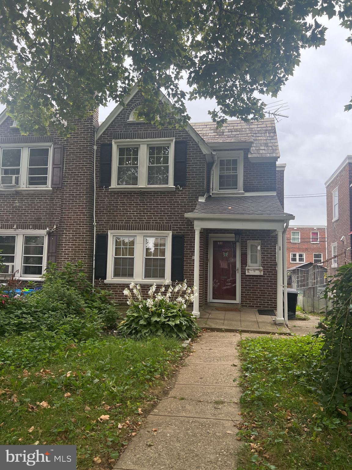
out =
[[[135,246],[135,263],[134,263],[134,277],[113,277],[114,270],[114,237],[115,236],[134,236],[136,237]],[[106,284],[162,284],[165,279],[145,279],[144,278],[144,238],[146,236],[163,236],[166,237],[166,257],[165,257],[165,279],[170,284],[171,279],[171,240],[172,232],[143,232],[143,231],[126,231],[126,230],[109,230],[107,234],[107,279],[104,281]]]

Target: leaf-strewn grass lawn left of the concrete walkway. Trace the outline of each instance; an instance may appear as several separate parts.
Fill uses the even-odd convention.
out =
[[[0,354],[16,341],[0,342]],[[111,336],[41,354],[32,367],[26,354],[0,363],[0,444],[76,444],[78,469],[112,468],[183,353],[173,339]]]

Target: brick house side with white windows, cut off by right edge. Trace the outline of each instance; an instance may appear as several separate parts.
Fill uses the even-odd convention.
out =
[[[352,236],[352,155],[347,155],[325,182],[328,272],[351,262]]]

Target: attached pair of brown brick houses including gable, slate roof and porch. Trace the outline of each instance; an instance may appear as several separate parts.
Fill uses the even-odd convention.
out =
[[[159,129],[134,119],[141,99],[133,88],[104,122],[94,113],[66,140],[21,136],[0,115],[8,274],[39,281],[47,260],[83,260],[117,301],[130,282],[146,293],[187,279],[197,316],[208,302],[277,306],[283,323],[284,234],[294,217],[283,210],[274,119]]]

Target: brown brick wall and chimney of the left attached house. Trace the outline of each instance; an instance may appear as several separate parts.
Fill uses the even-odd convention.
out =
[[[21,136],[12,119],[0,125],[0,143],[63,143],[64,171],[61,188],[0,191],[0,228],[52,229],[58,233],[57,263],[83,260],[92,272],[94,123],[98,115],[77,121],[77,131],[63,140],[46,136]]]

